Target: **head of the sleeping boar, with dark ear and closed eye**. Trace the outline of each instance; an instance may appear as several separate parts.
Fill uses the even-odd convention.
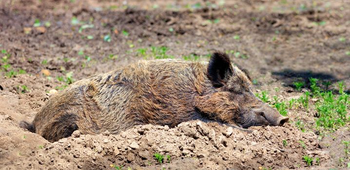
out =
[[[208,64],[206,92],[196,99],[195,107],[207,118],[250,126],[281,126],[288,121],[253,94],[248,73],[233,66],[225,53],[215,52]]]

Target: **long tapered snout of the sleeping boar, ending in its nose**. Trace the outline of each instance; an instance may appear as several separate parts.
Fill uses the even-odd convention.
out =
[[[262,115],[272,126],[282,126],[289,120],[288,117],[282,116],[275,108],[272,108],[266,103],[264,103],[256,111],[259,115]]]

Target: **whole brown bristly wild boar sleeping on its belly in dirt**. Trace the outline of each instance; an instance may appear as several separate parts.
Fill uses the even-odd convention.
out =
[[[75,130],[117,134],[139,124],[174,127],[194,119],[247,128],[288,120],[282,118],[253,95],[246,73],[216,52],[209,63],[139,61],[80,80],[54,95],[32,124],[20,125],[57,141]]]

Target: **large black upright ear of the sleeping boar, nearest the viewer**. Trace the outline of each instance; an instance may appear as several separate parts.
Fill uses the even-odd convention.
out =
[[[208,78],[215,87],[221,87],[226,84],[225,76],[232,75],[232,66],[230,58],[226,53],[214,52],[208,65]]]

